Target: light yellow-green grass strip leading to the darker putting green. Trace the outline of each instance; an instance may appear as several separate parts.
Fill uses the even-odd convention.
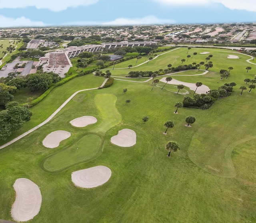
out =
[[[98,94],[94,103],[100,110],[102,122],[94,129],[94,132],[105,134],[107,130],[121,121],[121,115],[116,109],[116,96],[112,94]]]

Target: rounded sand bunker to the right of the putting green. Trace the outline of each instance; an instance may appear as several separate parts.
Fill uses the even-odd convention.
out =
[[[165,78],[164,78],[165,80]],[[116,136],[111,138],[111,142],[116,146],[130,147],[136,144],[136,132],[129,128],[118,131]]]

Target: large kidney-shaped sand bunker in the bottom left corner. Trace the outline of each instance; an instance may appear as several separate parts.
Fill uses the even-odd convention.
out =
[[[16,199],[12,205],[12,218],[15,221],[33,219],[40,211],[42,195],[39,187],[26,178],[19,178],[13,185]]]

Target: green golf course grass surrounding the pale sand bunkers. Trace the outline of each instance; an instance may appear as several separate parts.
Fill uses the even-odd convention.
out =
[[[172,93],[175,85],[161,90],[164,83],[159,83],[151,91],[152,81],[115,80],[109,88],[79,93],[50,122],[0,150],[0,218],[12,220],[12,185],[17,178],[28,178],[42,193],[42,207],[30,221],[33,223],[256,222],[256,107],[252,105],[256,91],[246,90],[240,96],[239,90],[246,77],[254,78],[256,65],[247,63],[246,55],[227,59],[227,55],[235,55],[233,51],[193,50],[198,52],[193,58],[196,62],[206,57],[199,52],[211,52],[214,67],[206,75],[173,78],[188,83],[200,81],[210,89],[236,82],[231,96],[219,99],[207,110],[182,108],[174,114],[174,104],[184,97]],[[170,56],[166,53],[141,69],[160,69],[168,63],[179,65],[186,51],[181,48],[170,52]],[[192,49],[189,53],[193,53]],[[117,65],[121,67],[122,63]],[[220,80],[219,70],[229,66],[234,67],[230,77]],[[252,67],[248,73],[246,66]],[[15,135],[48,118],[75,91],[98,87],[103,81],[102,77],[86,75],[56,87],[32,107],[32,120]],[[125,94],[124,88],[128,89]],[[192,91],[188,91],[191,95]],[[128,99],[130,103],[125,105]],[[98,122],[84,128],[70,125],[70,120],[84,115],[95,116]],[[189,115],[196,117],[191,128],[185,126]],[[149,117],[145,124],[143,116]],[[174,128],[164,135],[164,123],[168,120],[174,121]],[[123,148],[110,142],[123,128],[136,132],[136,145]],[[45,148],[42,140],[55,130],[69,131],[71,137],[57,148]],[[101,141],[97,137],[104,138],[102,147],[98,146]],[[177,141],[180,150],[168,158],[164,146],[170,140]],[[76,154],[78,144],[78,150],[80,146],[84,149]],[[93,150],[91,159],[86,159],[87,144]],[[61,171],[45,171],[46,164],[51,171]],[[72,172],[98,165],[112,171],[106,184],[81,189],[71,182]]]

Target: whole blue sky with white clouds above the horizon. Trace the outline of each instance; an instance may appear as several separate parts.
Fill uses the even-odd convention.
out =
[[[256,22],[255,0],[9,0],[0,27]]]

